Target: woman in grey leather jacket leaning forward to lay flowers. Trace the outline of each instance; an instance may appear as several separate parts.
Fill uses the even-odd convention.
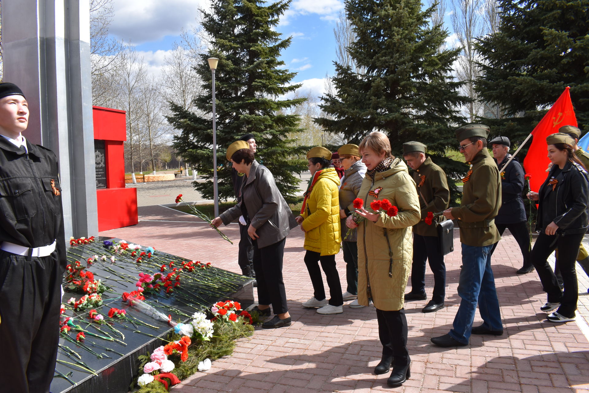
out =
[[[215,226],[227,225],[239,216],[246,220],[248,235],[254,246],[254,270],[256,270],[259,305],[254,311],[270,315],[273,319],[263,323],[264,328],[290,326],[290,314],[286,305],[286,290],[282,278],[284,243],[296,220],[276,187],[272,173],[254,160],[252,150],[245,141],[236,141],[227,148],[227,160],[234,169],[244,173],[241,186],[241,202],[213,220]]]

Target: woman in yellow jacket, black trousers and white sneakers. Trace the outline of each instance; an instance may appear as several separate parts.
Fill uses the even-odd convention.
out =
[[[339,218],[339,176],[330,167],[332,153],[316,146],[307,153],[311,180],[305,193],[303,208],[297,222],[305,232],[305,265],[313,283],[313,298],[303,303],[306,308],[318,308],[320,314],[338,314],[343,311],[342,285],[335,267],[335,255],[342,243]],[[330,299],[325,288],[319,262],[327,279]]]

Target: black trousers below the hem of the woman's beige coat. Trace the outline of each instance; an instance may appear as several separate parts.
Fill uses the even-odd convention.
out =
[[[405,367],[409,364],[405,309],[383,311],[377,308],[376,319],[378,320],[378,336],[382,344],[382,356],[393,356],[393,365]]]

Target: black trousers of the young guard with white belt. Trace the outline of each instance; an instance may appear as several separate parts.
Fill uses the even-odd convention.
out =
[[[27,257],[0,250],[0,391],[47,393],[55,372],[63,268],[57,252]]]

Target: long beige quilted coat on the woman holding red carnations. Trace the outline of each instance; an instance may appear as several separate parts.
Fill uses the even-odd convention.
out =
[[[369,195],[375,190],[379,190],[376,196]],[[364,206],[386,198],[399,209],[394,217],[382,212],[376,222],[360,222],[358,303],[368,306],[371,297],[379,310],[400,310],[413,259],[411,227],[421,219],[415,181],[405,163],[395,158],[391,169],[377,172],[374,179],[368,174],[364,177],[358,197],[364,200]]]

